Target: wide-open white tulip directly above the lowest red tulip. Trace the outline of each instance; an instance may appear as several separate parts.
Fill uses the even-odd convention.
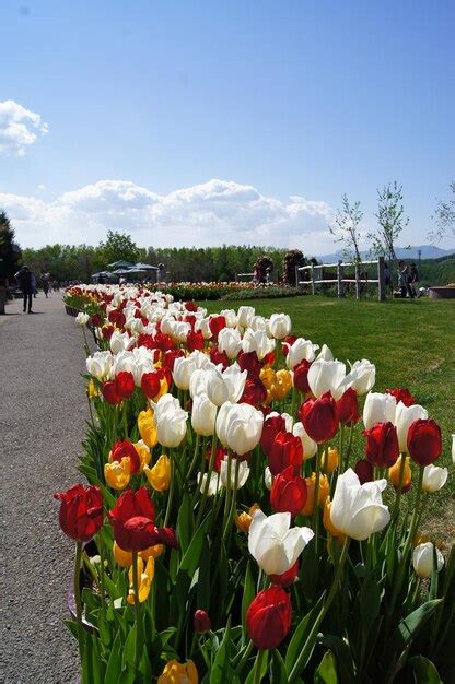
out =
[[[266,516],[256,510],[248,532],[248,550],[266,575],[282,575],[314,536],[310,528],[290,529],[291,514]]]

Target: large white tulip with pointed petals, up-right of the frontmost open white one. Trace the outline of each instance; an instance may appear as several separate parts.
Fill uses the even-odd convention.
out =
[[[358,541],[383,530],[390,520],[388,508],[382,499],[386,486],[386,480],[360,484],[359,477],[349,468],[337,480],[330,508],[332,524]]]

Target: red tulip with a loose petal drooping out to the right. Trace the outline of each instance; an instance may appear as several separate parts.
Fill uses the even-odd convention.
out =
[[[126,490],[108,512],[114,536],[124,551],[143,551],[156,544],[177,546],[174,530],[155,527],[155,509],[147,487]]]

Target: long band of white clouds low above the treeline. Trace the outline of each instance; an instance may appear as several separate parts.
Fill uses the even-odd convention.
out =
[[[96,244],[107,229],[141,246],[275,245],[317,253],[334,247],[334,211],[324,201],[282,201],[253,186],[212,179],[158,194],[128,180],[98,180],[51,202],[1,194],[22,246]]]

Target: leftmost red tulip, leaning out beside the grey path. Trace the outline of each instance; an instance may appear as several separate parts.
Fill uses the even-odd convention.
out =
[[[65,534],[77,542],[88,542],[103,524],[103,497],[98,487],[77,484],[67,492],[56,492],[60,502],[59,522]]]

